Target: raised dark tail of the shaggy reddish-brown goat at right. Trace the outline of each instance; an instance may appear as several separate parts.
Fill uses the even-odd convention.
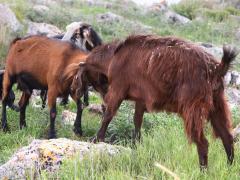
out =
[[[235,47],[223,46],[223,56],[220,64],[220,75],[224,77],[231,66],[231,63],[235,60],[239,51]]]

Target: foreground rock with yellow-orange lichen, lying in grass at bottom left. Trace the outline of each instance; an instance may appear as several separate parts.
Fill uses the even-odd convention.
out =
[[[26,177],[36,179],[41,170],[55,172],[64,159],[76,154],[81,160],[83,157],[96,154],[114,156],[123,151],[130,150],[106,143],[92,144],[65,138],[34,140],[0,166],[0,179],[25,179]]]

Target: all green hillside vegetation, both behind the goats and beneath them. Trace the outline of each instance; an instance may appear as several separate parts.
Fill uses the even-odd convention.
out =
[[[38,0],[0,0],[7,4],[23,25],[18,32],[11,32],[7,27],[0,27],[0,65],[4,60],[11,40],[16,36],[25,36],[28,21],[44,22],[57,26],[63,32],[66,25],[73,21],[85,21],[92,24],[104,42],[123,39],[129,34],[152,33],[161,36],[174,35],[193,42],[204,42],[222,47],[231,44],[240,48],[240,10],[233,6],[221,6],[207,1],[190,0],[167,7],[187,17],[186,24],[169,22],[164,11],[158,8],[138,7],[133,2],[122,0],[108,1],[56,1],[47,5],[48,11],[39,14],[34,10]],[[47,2],[47,1],[45,1]],[[216,8],[217,7],[217,8]],[[101,14],[114,13],[117,18],[104,21]],[[240,70],[240,57],[233,69]],[[14,87],[15,88],[15,87]],[[20,92],[16,90],[17,100]],[[101,103],[98,95],[90,97],[90,103]],[[227,165],[227,158],[220,140],[212,136],[211,127],[206,125],[209,140],[209,169],[201,173],[198,167],[198,156],[195,145],[189,145],[184,134],[183,123],[175,114],[146,113],[142,128],[142,141],[132,146],[133,107],[131,102],[124,102],[117,116],[111,122],[106,141],[132,148],[132,153],[123,153],[117,157],[96,156],[80,161],[78,156],[64,161],[59,172],[49,174],[42,172],[43,179],[171,179],[167,174],[154,166],[155,162],[168,167],[181,179],[239,179],[240,150],[236,144],[235,161]],[[64,125],[61,112],[69,109],[76,112],[76,106],[70,102],[66,107],[58,106],[56,129],[58,137],[87,141],[94,136],[100,127],[101,116],[84,110],[83,137],[77,137],[72,126]],[[0,130],[0,164],[20,147],[32,139],[47,137],[49,111],[30,105],[27,108],[27,128],[19,130],[19,114],[8,109],[8,122],[11,132]],[[240,122],[239,108],[232,109],[234,125]]]

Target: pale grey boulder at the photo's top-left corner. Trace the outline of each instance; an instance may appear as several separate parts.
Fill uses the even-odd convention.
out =
[[[12,32],[17,32],[23,27],[13,11],[7,5],[0,4],[0,27],[3,26],[7,26]]]

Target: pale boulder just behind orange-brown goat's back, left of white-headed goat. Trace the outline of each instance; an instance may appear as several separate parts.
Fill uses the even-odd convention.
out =
[[[29,22],[27,35],[35,35],[35,34],[46,34],[47,36],[50,37],[50,36],[62,34],[62,31],[58,29],[56,26],[51,24]]]

